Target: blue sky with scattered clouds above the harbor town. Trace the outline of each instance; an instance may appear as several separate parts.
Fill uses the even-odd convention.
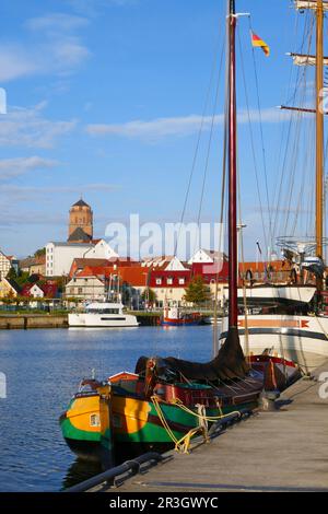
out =
[[[8,101],[8,113],[0,115],[2,252],[23,257],[49,241],[66,241],[69,208],[81,196],[93,208],[97,237],[108,223],[126,222],[130,213],[143,222],[179,221],[201,124],[185,220],[219,220],[225,3],[1,1],[0,87]],[[271,194],[286,124],[277,106],[286,96],[291,67],[285,52],[295,49],[295,14],[290,0],[236,3],[238,12],[251,13],[254,32],[271,50],[269,58],[260,49],[253,54],[249,19],[239,17],[241,197],[245,253],[254,258],[256,241],[265,240],[246,95],[239,86],[242,63],[257,159],[260,163],[262,130]],[[259,187],[265,188],[262,166]]]

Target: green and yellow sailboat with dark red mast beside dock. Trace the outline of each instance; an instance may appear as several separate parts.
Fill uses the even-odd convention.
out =
[[[235,0],[229,1],[227,163],[229,163],[229,329],[225,342],[210,362],[141,357],[134,373],[122,372],[105,381],[83,379],[60,417],[68,445],[80,456],[103,447],[166,444],[188,449],[190,440],[218,420],[258,405],[263,388],[285,387],[280,370],[298,373],[292,362],[268,355],[246,361],[238,336],[237,201],[236,201],[236,61]]]

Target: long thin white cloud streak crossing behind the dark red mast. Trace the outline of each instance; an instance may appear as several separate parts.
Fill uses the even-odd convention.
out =
[[[258,122],[260,116],[258,110],[249,112],[249,118],[253,122]],[[263,122],[280,122],[286,119],[286,114],[278,108],[267,108],[261,112]],[[223,114],[214,117],[214,125],[222,125]],[[243,109],[238,114],[238,122],[248,122],[248,113]],[[126,138],[140,138],[147,140],[156,140],[168,136],[189,136],[199,130],[201,124],[203,129],[208,130],[212,124],[212,116],[202,118],[200,115],[189,115],[172,118],[156,118],[150,121],[133,120],[125,124],[93,124],[87,125],[86,131],[91,136],[120,136]]]

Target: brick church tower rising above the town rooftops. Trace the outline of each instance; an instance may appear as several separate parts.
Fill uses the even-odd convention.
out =
[[[89,243],[93,238],[93,212],[91,207],[82,200],[70,208],[69,214],[69,243]]]

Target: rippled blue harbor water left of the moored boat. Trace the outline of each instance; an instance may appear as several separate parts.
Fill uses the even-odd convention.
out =
[[[211,359],[212,328],[0,331],[0,491],[59,491],[101,471],[67,447],[59,416],[81,378],[134,371],[140,355]]]

